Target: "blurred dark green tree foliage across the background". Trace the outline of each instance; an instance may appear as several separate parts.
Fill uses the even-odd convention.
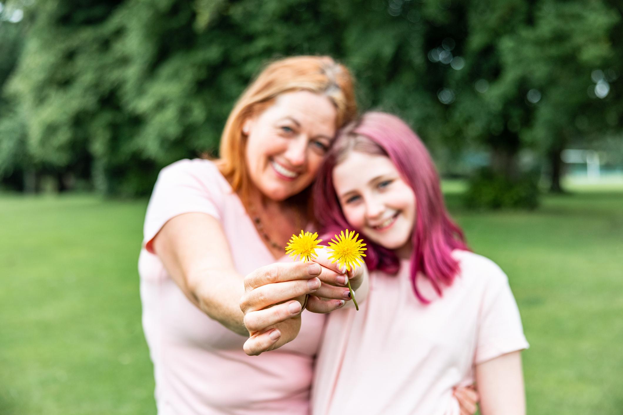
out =
[[[616,134],[612,1],[34,2],[19,25],[0,23],[12,45],[0,55],[0,178],[145,194],[162,166],[214,154],[250,78],[295,54],[346,63],[361,108],[398,113],[436,154],[479,146],[498,173],[520,175],[521,149]],[[604,99],[586,92],[595,70]]]

